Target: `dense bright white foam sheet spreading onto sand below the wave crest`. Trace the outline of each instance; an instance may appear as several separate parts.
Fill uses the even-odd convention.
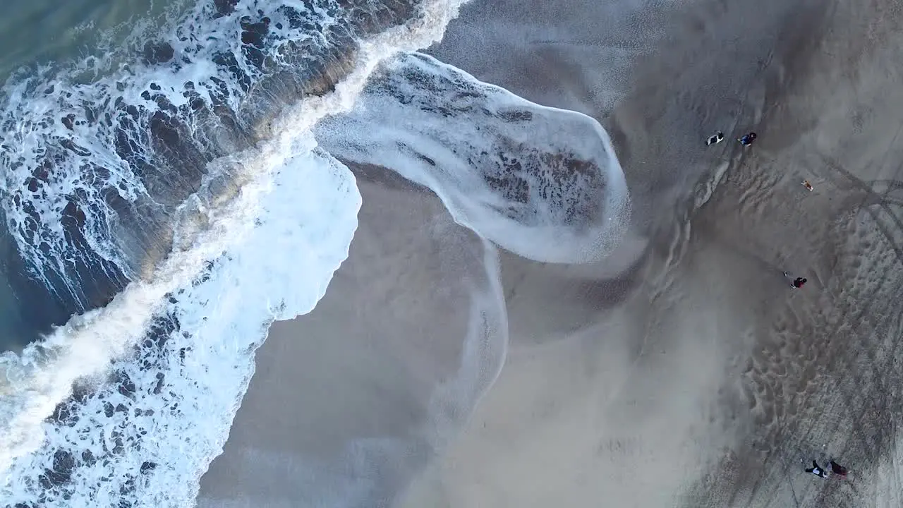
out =
[[[47,432],[43,437],[49,440],[43,449],[51,456],[55,447],[70,446],[79,451],[89,450],[96,457],[109,456],[107,450],[116,447],[116,439],[121,439],[119,443],[125,447],[114,455],[115,462],[104,464],[98,460],[93,466],[79,467],[78,476],[73,478],[78,485],[73,489],[75,495],[69,500],[53,499],[51,495],[45,505],[115,505],[120,499],[133,497],[120,492],[122,480],[129,475],[140,479],[137,473],[144,463],[159,467],[154,468],[153,474],[144,474],[147,476],[144,488],[139,488],[131,501],[148,506],[191,503],[197,488],[196,479],[192,479],[206,468],[211,455],[222,446],[224,428],[228,428],[236,409],[237,396],[244,391],[253,370],[251,353],[267,325],[273,319],[303,314],[313,308],[325,292],[332,272],[347,256],[356,228],[359,195],[353,176],[329,155],[320,152],[295,155],[275,171],[272,186],[269,190],[262,185],[261,193],[253,198],[247,194],[248,207],[259,199],[267,202],[254,222],[255,227],[244,238],[231,236],[235,230],[219,230],[230,235],[227,253],[214,262],[203,282],[175,294],[169,310],[180,326],[163,348],[162,354],[168,360],[154,369],[142,368],[146,356],[115,362],[114,369],[121,370],[134,383],[134,394],[102,393],[93,403],[79,408],[81,414],[73,426],[43,426]],[[250,208],[243,212],[250,212]],[[205,249],[192,249],[188,262],[182,256],[184,264],[173,275],[185,277],[191,268],[200,271],[204,258],[199,250],[206,250],[210,240],[203,245]],[[127,344],[123,339],[129,335],[135,338],[136,331],[146,330],[150,313],[138,306],[148,306],[148,310],[159,308],[162,286],[142,285],[137,295],[139,292],[130,287],[116,302],[119,305],[96,313],[81,334],[70,331],[65,336],[54,335],[61,343],[63,339],[70,341],[62,344],[58,360],[49,363],[58,367],[54,371],[58,376],[56,389],[64,390],[62,383],[70,381],[60,380],[60,376],[75,377],[89,369],[98,371],[103,367],[98,363],[106,363],[108,355],[116,353],[116,345],[121,349]],[[119,315],[126,313],[129,315],[126,319]],[[137,321],[142,317],[144,322]],[[92,329],[98,328],[98,324],[105,325],[104,335]],[[108,330],[116,334],[106,334]],[[79,342],[72,343],[73,338]],[[79,346],[96,345],[101,338],[106,341],[107,350],[79,352]],[[182,348],[188,348],[191,354],[180,358]],[[143,351],[161,354],[154,348]],[[44,363],[42,369],[49,364]],[[48,378],[46,372],[33,376],[41,382],[36,388],[43,390],[44,398],[51,403],[51,397],[58,393],[46,386]],[[159,381],[163,381],[162,390],[157,389]],[[34,402],[42,401],[35,396],[41,393],[28,394],[26,400],[34,404],[33,411],[41,410]],[[105,403],[123,404],[127,410],[120,409],[107,417]],[[23,426],[32,423],[26,418],[41,416],[35,412],[22,414],[14,421],[18,426],[13,428],[29,430]],[[143,437],[143,432],[151,436]],[[116,433],[116,437],[111,437],[111,433]],[[38,436],[32,433],[25,437]],[[40,444],[23,440],[20,447],[34,445]],[[20,468],[40,470],[45,461],[43,455],[19,457],[10,474],[21,472]],[[98,481],[104,476],[122,480]],[[33,487],[12,481],[9,494],[16,500],[33,500],[36,494]]]

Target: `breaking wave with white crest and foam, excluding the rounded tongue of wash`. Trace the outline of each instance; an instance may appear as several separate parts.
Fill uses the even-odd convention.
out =
[[[458,5],[203,2],[136,61],[6,84],[17,284],[79,315],[2,358],[5,504],[194,502],[267,325],[347,255],[359,196],[312,125]]]

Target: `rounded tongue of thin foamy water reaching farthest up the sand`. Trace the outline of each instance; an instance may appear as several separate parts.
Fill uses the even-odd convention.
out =
[[[316,136],[340,158],[424,184],[461,224],[529,259],[601,259],[627,226],[627,184],[599,122],[424,54],[386,61]]]

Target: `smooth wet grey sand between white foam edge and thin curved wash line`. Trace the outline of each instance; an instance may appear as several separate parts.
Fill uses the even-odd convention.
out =
[[[469,379],[456,373],[473,345],[465,343],[469,308],[503,312],[492,310],[490,295],[482,304],[472,300],[473,287],[486,284],[481,240],[454,224],[432,193],[366,178],[358,188],[363,204],[349,259],[315,312],[272,325],[225,451],[201,481],[201,506],[310,501],[329,494],[321,482],[340,484],[336,475],[349,468],[368,479],[368,495],[389,503],[434,456],[442,428],[461,425],[470,411],[455,384]],[[396,286],[398,280],[407,284]],[[423,289],[431,287],[441,289]],[[296,377],[286,386],[288,371]],[[436,399],[443,392],[449,395]],[[292,400],[275,419],[274,398]],[[257,428],[267,428],[265,435]],[[377,471],[374,463],[384,466]],[[317,465],[325,478],[306,483]],[[310,471],[294,483],[284,476],[299,468]]]

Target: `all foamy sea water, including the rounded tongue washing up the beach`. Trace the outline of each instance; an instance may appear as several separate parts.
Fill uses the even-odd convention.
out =
[[[16,5],[0,95],[2,506],[195,503],[267,327],[310,312],[348,255],[346,163],[424,183],[532,259],[597,258],[626,221],[595,120],[415,53],[459,0]],[[445,396],[472,404],[504,355],[464,354],[496,358]]]

